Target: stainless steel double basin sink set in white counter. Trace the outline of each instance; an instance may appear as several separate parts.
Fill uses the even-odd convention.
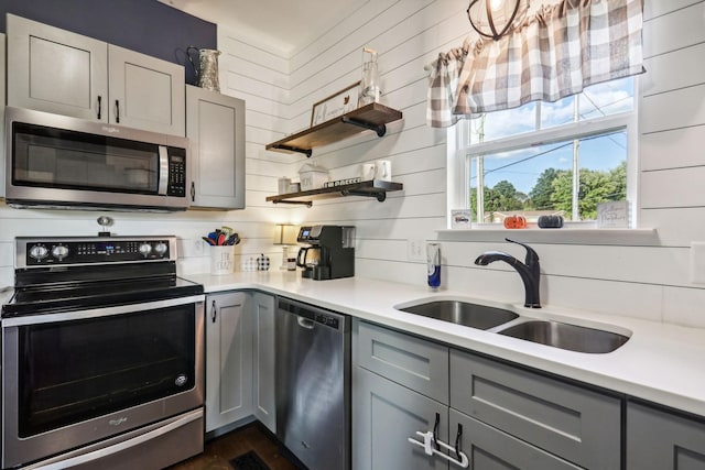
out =
[[[614,331],[551,319],[522,317],[512,310],[458,299],[425,300],[399,305],[395,308],[576,352],[607,353],[629,340],[629,336]]]

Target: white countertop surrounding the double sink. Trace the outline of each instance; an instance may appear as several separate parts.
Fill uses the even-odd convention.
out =
[[[529,309],[468,297],[462,292],[433,293],[425,287],[362,277],[311,281],[302,280],[300,272],[283,271],[185,277],[203,284],[206,293],[260,289],[705,416],[705,329],[550,305]],[[464,298],[525,317],[552,318],[621,334],[631,331],[631,337],[614,352],[582,353],[394,309],[394,305],[427,297]]]

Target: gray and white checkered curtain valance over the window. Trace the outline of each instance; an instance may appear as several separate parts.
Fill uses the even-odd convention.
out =
[[[643,72],[642,0],[564,0],[540,8],[498,41],[477,40],[431,66],[429,125],[556,101]]]

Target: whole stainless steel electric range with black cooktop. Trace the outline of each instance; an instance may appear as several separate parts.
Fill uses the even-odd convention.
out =
[[[204,293],[175,237],[17,238],[2,469],[161,469],[203,451]]]

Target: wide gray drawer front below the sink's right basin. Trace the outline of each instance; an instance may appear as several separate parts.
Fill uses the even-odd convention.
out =
[[[452,349],[451,407],[582,467],[620,467],[618,397]]]

